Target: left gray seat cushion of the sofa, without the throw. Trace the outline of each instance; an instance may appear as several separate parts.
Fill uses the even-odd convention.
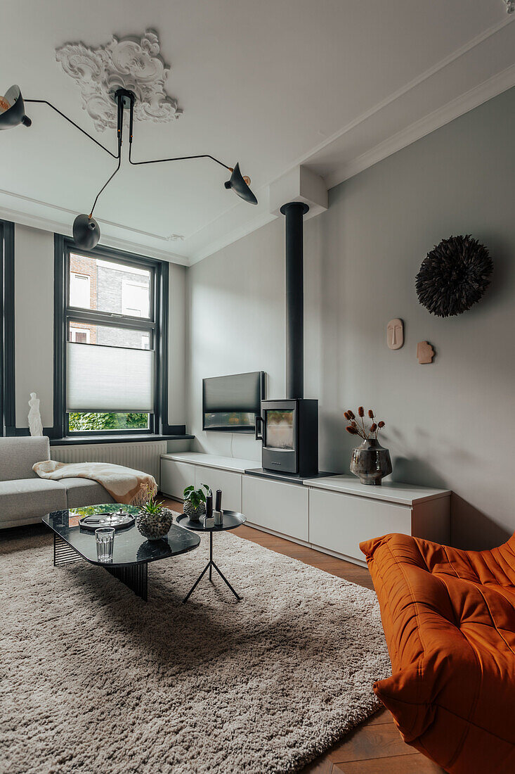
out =
[[[46,513],[67,508],[67,491],[59,481],[17,478],[0,481],[0,526],[5,522],[39,521]]]

